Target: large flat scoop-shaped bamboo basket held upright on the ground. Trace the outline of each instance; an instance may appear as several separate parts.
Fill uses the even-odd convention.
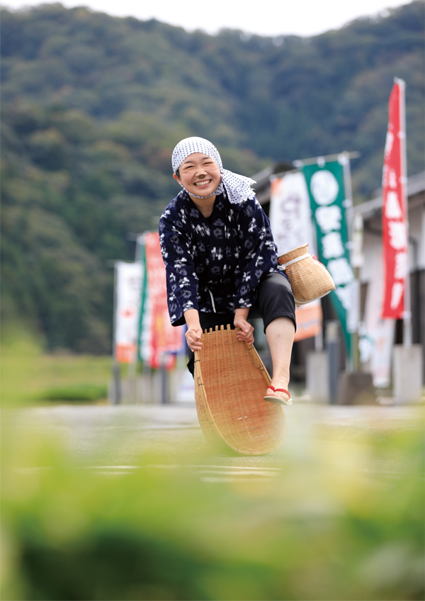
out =
[[[237,331],[205,330],[195,353],[195,400],[205,439],[219,452],[264,455],[282,444],[282,405],[263,400],[271,379],[252,345]]]

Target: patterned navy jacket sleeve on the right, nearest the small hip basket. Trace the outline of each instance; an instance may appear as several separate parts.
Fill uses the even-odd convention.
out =
[[[251,307],[261,278],[278,267],[270,222],[256,198],[244,202],[238,222],[240,255],[233,298],[235,309]]]

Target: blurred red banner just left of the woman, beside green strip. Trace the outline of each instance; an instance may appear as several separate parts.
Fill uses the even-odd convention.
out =
[[[165,266],[159,245],[159,234],[145,234],[145,253],[147,268],[147,286],[149,294],[149,359],[148,364],[154,369],[162,366],[162,355],[166,352],[177,352],[182,346],[181,327],[173,327],[169,318],[166,298]],[[166,355],[166,367],[171,369],[175,357]]]

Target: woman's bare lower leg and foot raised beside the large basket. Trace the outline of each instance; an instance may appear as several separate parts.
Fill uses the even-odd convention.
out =
[[[271,352],[273,363],[273,378],[271,385],[274,388],[285,388],[288,390],[290,355],[294,342],[295,327],[290,318],[276,318],[266,327],[266,337]],[[267,388],[267,394],[273,395],[271,388]],[[276,393],[280,398],[288,400],[285,393]]]

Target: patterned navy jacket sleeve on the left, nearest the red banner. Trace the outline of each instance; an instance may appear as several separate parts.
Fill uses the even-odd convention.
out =
[[[159,242],[166,270],[171,323],[188,309],[198,309],[198,276],[184,215],[167,208],[159,220]]]

